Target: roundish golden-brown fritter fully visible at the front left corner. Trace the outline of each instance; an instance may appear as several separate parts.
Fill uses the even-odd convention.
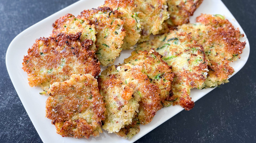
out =
[[[63,137],[99,136],[105,119],[105,103],[97,80],[91,74],[73,74],[64,82],[53,83],[47,91],[46,117]]]

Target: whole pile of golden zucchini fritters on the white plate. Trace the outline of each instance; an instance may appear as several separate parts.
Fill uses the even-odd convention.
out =
[[[89,138],[103,128],[131,138],[163,107],[192,109],[192,88],[227,83],[244,35],[218,14],[190,24],[202,1],[107,0],[56,20],[50,37],[37,39],[22,64],[29,85],[49,95],[46,117],[57,134]],[[135,50],[110,65],[125,49]],[[110,66],[101,72],[100,65]]]

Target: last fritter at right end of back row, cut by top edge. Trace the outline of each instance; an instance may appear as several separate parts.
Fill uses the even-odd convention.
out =
[[[170,18],[167,23],[172,26],[189,23],[192,16],[203,0],[167,0]]]

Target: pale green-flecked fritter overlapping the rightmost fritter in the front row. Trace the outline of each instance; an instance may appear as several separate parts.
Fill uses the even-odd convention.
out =
[[[173,96],[164,105],[179,103],[186,110],[194,107],[189,97],[190,89],[201,87],[207,75],[207,63],[203,46],[193,43],[190,34],[172,31],[171,33],[155,37],[138,45],[136,50],[154,49],[162,55],[162,59],[172,65]]]

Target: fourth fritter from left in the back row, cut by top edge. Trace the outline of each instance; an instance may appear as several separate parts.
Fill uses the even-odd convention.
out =
[[[126,35],[123,40],[122,49],[133,49],[140,38],[140,20],[134,12],[136,7],[134,0],[106,0],[104,6],[118,11],[118,18],[124,21]]]

